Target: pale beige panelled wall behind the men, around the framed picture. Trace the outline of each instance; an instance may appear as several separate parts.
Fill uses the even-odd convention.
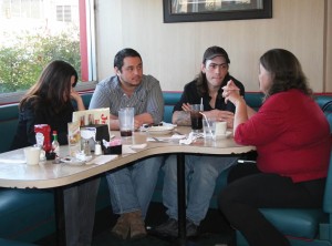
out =
[[[258,91],[259,57],[283,48],[299,58],[315,92],[332,92],[331,13],[330,0],[273,0],[272,19],[164,23],[162,0],[96,0],[98,80],[113,74],[115,53],[131,47],[164,91],[179,91],[216,44],[227,50],[230,73]]]

